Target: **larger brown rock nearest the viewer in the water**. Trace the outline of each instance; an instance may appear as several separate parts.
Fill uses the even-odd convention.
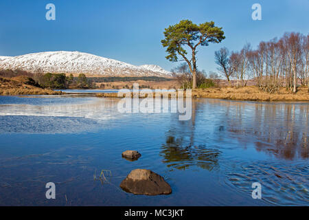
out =
[[[126,179],[122,180],[120,187],[126,192],[143,195],[168,195],[172,188],[163,177],[151,170],[132,170]]]

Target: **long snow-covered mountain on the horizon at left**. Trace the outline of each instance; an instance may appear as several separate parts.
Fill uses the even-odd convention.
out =
[[[0,56],[0,69],[102,76],[170,76],[170,72],[157,65],[135,66],[93,54],[66,51]]]

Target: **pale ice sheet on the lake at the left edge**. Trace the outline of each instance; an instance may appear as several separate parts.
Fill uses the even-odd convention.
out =
[[[76,133],[98,129],[117,115],[113,102],[98,98],[1,100],[0,133]]]

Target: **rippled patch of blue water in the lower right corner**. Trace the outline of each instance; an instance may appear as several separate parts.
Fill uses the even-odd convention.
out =
[[[238,163],[226,174],[226,184],[251,192],[251,184],[260,182],[262,199],[273,205],[308,206],[309,165],[271,162]]]

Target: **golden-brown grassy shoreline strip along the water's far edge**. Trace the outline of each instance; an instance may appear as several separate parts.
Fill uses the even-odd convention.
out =
[[[122,98],[117,92],[87,92],[87,89],[80,89],[82,92],[66,92],[41,88],[34,85],[27,77],[16,77],[12,79],[0,78],[0,96],[22,96],[22,95],[82,95],[95,96],[98,98]],[[92,89],[96,90],[96,89]],[[100,89],[98,89],[100,90]],[[141,90],[140,90],[141,91]],[[153,89],[152,89],[153,91]],[[133,92],[131,91],[131,97]],[[160,96],[170,97],[168,91],[162,91]],[[177,93],[176,93],[177,96]],[[147,96],[146,96],[147,97]],[[155,93],[153,94],[155,97]],[[139,94],[139,98],[145,98],[144,94]],[[268,94],[255,86],[247,87],[210,87],[205,89],[193,89],[192,98],[216,98],[221,100],[239,100],[253,102],[309,102],[308,87],[299,87],[293,94],[286,88],[279,88],[277,93]]]

